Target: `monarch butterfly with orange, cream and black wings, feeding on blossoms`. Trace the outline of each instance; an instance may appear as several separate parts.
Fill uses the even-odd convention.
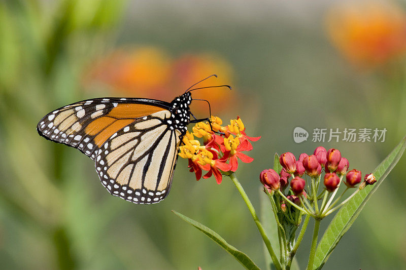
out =
[[[210,124],[209,119],[196,119],[190,112],[190,92],[208,88],[191,89],[196,84],[170,103],[145,98],[72,103],[45,115],[37,130],[46,139],[75,147],[94,160],[100,182],[113,196],[136,204],[158,203],[171,189],[187,125],[206,120]]]

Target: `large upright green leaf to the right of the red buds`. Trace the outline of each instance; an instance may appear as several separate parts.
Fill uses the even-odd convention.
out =
[[[326,263],[331,252],[354,223],[366,202],[378,189],[385,177],[403,155],[406,146],[405,142],[406,137],[400,141],[386,159],[375,169],[373,173],[377,178],[377,183],[375,185],[367,185],[364,189],[360,190],[357,195],[355,195],[339,210],[339,212],[337,212],[317,246],[313,269],[321,269]]]

